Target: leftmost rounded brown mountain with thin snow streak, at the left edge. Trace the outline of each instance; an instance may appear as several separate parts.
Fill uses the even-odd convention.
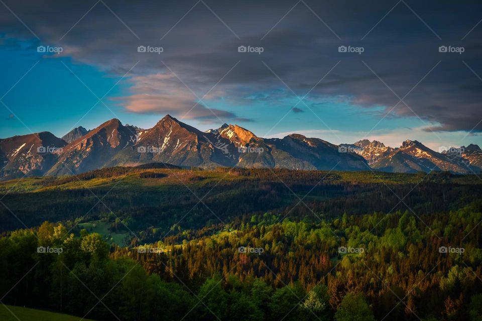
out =
[[[0,178],[44,175],[65,145],[48,131],[0,139]]]

